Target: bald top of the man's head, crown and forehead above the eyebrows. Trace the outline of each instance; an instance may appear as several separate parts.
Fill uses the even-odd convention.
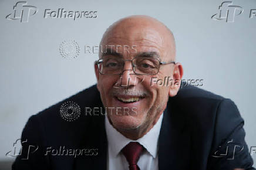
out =
[[[114,45],[151,46],[159,50],[162,60],[175,60],[176,46],[173,33],[157,19],[134,15],[114,22],[103,35],[100,46]],[[153,50],[153,48],[152,48]]]

